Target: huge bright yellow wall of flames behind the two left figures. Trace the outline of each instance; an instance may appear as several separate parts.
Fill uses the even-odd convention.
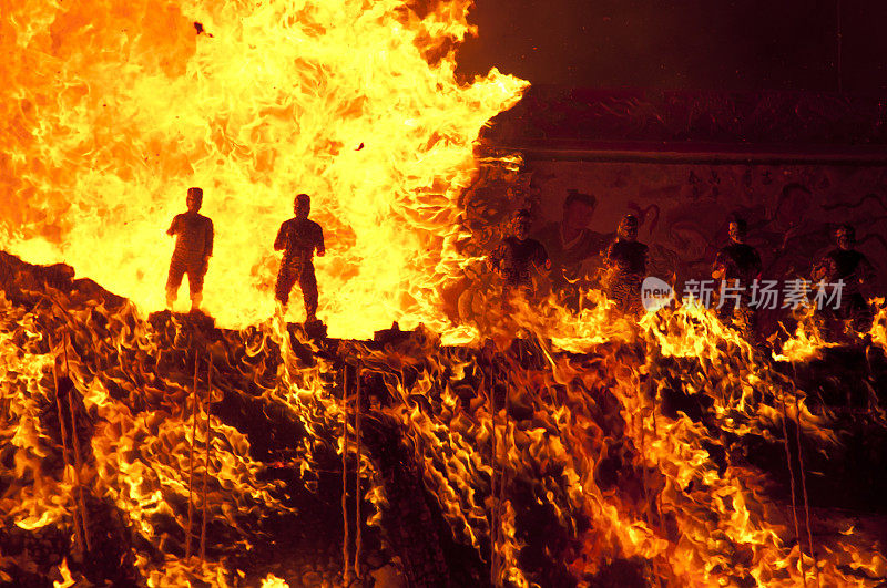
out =
[[[447,329],[434,295],[463,262],[473,143],[526,86],[456,82],[469,6],[3,0],[0,246],[156,310],[164,231],[202,186],[204,307],[243,327],[273,312],[272,244],[305,192],[330,334]]]

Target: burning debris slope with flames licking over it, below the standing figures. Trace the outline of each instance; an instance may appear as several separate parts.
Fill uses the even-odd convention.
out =
[[[354,585],[887,576],[877,344],[767,361],[687,308],[581,352],[310,341],[2,261],[9,585],[343,585],[343,514]]]

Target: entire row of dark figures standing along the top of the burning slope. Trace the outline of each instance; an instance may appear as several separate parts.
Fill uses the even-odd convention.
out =
[[[176,215],[167,235],[175,237],[175,250],[170,261],[166,280],[166,305],[175,303],[179,288],[185,275],[188,277],[192,310],[200,309],[203,280],[213,255],[213,223],[200,214],[203,190],[188,188],[187,212]],[[624,215],[614,236],[594,233],[588,224],[594,212],[592,195],[570,190],[563,205],[561,223],[544,225],[530,236],[532,217],[529,210],[519,210],[512,218],[510,235],[493,249],[487,259],[488,267],[502,280],[503,301],[516,295],[533,296],[533,272],[542,271],[551,280],[559,300],[573,307],[582,287],[581,265],[584,260],[600,256],[599,285],[614,301],[619,311],[636,314],[642,310],[642,283],[646,278],[650,249],[638,240],[639,220],[634,215]],[[274,249],[283,251],[277,272],[275,298],[285,312],[289,292],[298,282],[305,302],[308,323],[317,321],[317,279],[314,272],[314,255],[324,256],[324,231],[308,219],[310,197],[299,194],[294,202],[294,217],[281,225]],[[733,215],[728,219],[730,243],[717,251],[711,277],[721,280],[718,313],[753,336],[761,305],[755,300],[762,274],[761,255],[745,243],[747,225]],[[850,225],[842,225],[836,231],[837,247],[813,265],[809,276],[813,282],[842,287],[843,306],[828,309],[826,313],[835,320],[854,321],[865,328],[870,317],[863,288],[874,278],[874,268],[865,255],[857,251],[856,234]],[[724,303],[724,285],[730,285],[733,305]]]

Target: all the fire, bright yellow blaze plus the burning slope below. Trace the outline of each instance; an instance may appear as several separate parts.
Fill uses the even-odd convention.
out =
[[[634,321],[597,291],[447,319],[473,144],[524,86],[456,82],[469,1],[0,7],[0,247],[131,300],[0,255],[0,581],[338,586],[383,556],[412,586],[887,577],[863,513],[808,499],[849,452],[798,383],[832,344],[810,321],[765,355],[696,306]],[[194,185],[225,329],[147,316]],[[330,334],[425,328],[268,320],[300,192]],[[852,419],[887,430],[874,391]]]

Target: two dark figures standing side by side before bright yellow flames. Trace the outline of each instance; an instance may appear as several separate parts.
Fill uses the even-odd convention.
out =
[[[175,215],[167,235],[175,237],[175,249],[170,261],[166,278],[166,306],[172,309],[187,275],[191,293],[191,310],[200,309],[203,299],[203,279],[213,255],[213,221],[200,214],[203,204],[203,189],[188,188],[185,199],[187,212]],[[308,219],[312,199],[307,194],[296,196],[293,205],[294,217],[281,225],[274,250],[283,251],[281,269],[277,272],[275,298],[283,312],[289,301],[289,292],[298,282],[305,301],[306,322],[317,321],[317,278],[314,274],[315,252],[323,257],[324,231],[320,225]]]

